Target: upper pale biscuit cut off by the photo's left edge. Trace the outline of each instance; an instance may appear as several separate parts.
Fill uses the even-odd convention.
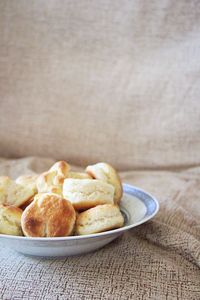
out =
[[[7,176],[0,177],[0,204],[21,206],[34,195],[28,186],[17,184]]]

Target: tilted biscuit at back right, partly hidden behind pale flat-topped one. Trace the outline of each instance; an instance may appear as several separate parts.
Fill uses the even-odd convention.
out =
[[[87,166],[86,172],[95,179],[103,180],[115,188],[114,201],[119,204],[122,198],[122,184],[116,170],[107,163],[97,163],[95,165]]]

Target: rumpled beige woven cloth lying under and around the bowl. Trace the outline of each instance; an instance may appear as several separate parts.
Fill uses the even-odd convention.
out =
[[[53,162],[0,159],[0,174],[39,173]],[[77,257],[26,257],[0,241],[1,299],[200,299],[200,167],[121,177],[158,198],[158,215]]]

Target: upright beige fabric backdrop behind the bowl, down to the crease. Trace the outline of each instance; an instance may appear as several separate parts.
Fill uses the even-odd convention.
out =
[[[199,30],[195,0],[1,0],[0,155],[200,163]]]

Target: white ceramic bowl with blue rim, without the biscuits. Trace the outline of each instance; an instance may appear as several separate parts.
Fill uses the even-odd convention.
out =
[[[124,231],[153,218],[159,210],[157,200],[145,191],[123,185],[121,211],[125,218],[122,228],[98,234],[57,238],[29,238],[0,234],[0,243],[27,255],[57,257],[71,256],[97,250],[110,243]]]

